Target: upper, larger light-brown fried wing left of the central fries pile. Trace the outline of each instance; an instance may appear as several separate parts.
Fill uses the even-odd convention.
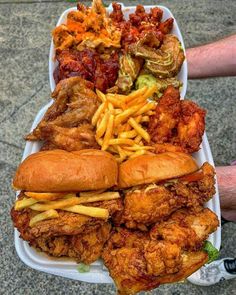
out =
[[[37,127],[26,136],[27,140],[45,140],[42,128],[78,127],[90,123],[99,101],[90,82],[80,77],[61,81],[52,93],[53,104],[48,108]],[[47,138],[46,138],[47,139]]]

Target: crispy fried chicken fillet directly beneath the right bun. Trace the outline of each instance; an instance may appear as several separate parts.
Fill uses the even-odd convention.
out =
[[[193,210],[203,205],[215,193],[214,169],[204,163],[202,179],[193,182],[179,180],[136,189],[125,194],[124,211],[116,224],[147,230],[147,226],[162,221],[177,209]]]

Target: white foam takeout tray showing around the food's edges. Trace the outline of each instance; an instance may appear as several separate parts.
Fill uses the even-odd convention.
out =
[[[124,7],[123,10],[125,11],[125,15],[127,16],[129,13],[132,13],[135,9],[135,7]],[[153,6],[145,6],[145,9],[148,11]],[[164,11],[164,17],[166,18],[173,17],[172,13],[169,9],[167,9],[164,6],[159,6]],[[61,15],[57,25],[60,25],[61,23],[65,22],[66,15],[69,11],[76,10],[76,8],[70,8],[64,11],[64,13]],[[111,11],[111,5],[108,8],[108,11]],[[180,30],[178,28],[177,22],[175,20],[174,22],[174,28],[173,33],[178,36],[179,40],[182,43],[182,46],[184,48],[183,38],[181,36]],[[49,77],[50,77],[50,86],[51,90],[53,91],[55,88],[55,82],[53,79],[53,70],[55,68],[55,63],[53,62],[54,57],[54,48],[53,43],[51,43],[50,48],[50,58],[49,58]],[[182,97],[185,96],[186,88],[187,88],[187,63],[184,62],[181,72],[179,73],[179,79],[183,82],[183,88],[181,91]],[[37,126],[37,124],[42,119],[43,115],[45,114],[48,107],[51,105],[52,101],[50,101],[46,106],[44,106],[39,113],[37,114],[34,123],[32,125],[31,131]],[[40,149],[40,143],[39,142],[30,142],[27,141],[23,159],[25,159],[28,155],[36,153]],[[196,158],[199,165],[203,164],[204,162],[209,162],[210,164],[214,165],[213,158],[211,154],[211,150],[209,147],[209,143],[206,137],[206,134],[203,136],[203,142],[202,146],[199,152],[194,154],[194,157]],[[214,211],[220,220],[220,204],[219,204],[219,194],[218,194],[218,188],[216,185],[216,194],[212,200],[210,200],[206,206],[210,208],[212,211]],[[212,235],[210,235],[209,241],[212,242],[212,244],[219,249],[221,244],[221,228],[218,227],[217,231],[214,232]],[[98,260],[91,264],[90,272],[88,273],[79,273],[77,271],[77,264],[75,261],[71,259],[64,259],[64,258],[53,258],[49,257],[46,254],[42,252],[36,251],[34,248],[31,248],[27,242],[23,241],[19,238],[19,233],[15,229],[15,247],[16,251],[20,257],[20,259],[31,268],[34,268],[39,271],[43,271],[46,273],[89,282],[89,283],[112,283],[113,280],[110,278],[105,266],[103,265],[101,260]],[[193,283],[196,282],[196,278],[194,277],[194,274],[191,276],[190,281]]]

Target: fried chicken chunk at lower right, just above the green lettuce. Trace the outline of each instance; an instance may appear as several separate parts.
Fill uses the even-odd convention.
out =
[[[167,221],[154,225],[150,236],[177,244],[184,250],[199,250],[218,225],[216,214],[208,208],[199,208],[198,212],[180,209]]]

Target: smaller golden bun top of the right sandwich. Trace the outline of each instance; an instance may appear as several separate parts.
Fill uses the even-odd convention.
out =
[[[119,167],[118,186],[128,188],[156,183],[197,171],[193,157],[180,152],[142,155],[123,162]]]

